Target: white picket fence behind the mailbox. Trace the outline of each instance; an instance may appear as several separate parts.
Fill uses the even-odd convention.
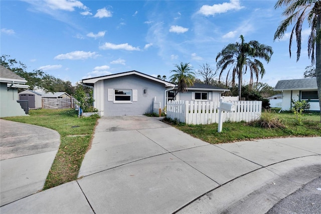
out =
[[[234,112],[223,113],[223,122],[249,122],[260,118],[262,101],[228,101],[235,105]],[[204,101],[169,101],[167,103],[167,117],[186,124],[212,124],[219,122],[219,102]]]

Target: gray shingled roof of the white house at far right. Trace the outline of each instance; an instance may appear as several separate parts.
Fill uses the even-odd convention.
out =
[[[274,90],[307,90],[317,89],[316,78],[279,80]]]

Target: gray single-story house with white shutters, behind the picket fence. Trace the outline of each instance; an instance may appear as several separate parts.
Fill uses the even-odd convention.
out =
[[[135,70],[87,78],[82,83],[93,87],[94,107],[101,116],[151,113],[155,97],[161,102],[161,109],[164,109],[165,103],[173,99],[177,90],[176,84]],[[224,91],[227,89],[195,84],[188,92],[177,94],[175,99],[219,101]]]

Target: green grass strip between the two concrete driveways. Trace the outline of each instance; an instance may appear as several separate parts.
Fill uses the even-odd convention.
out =
[[[60,147],[49,171],[44,190],[76,180],[90,145],[97,117],[78,118],[75,110],[30,110],[30,117],[3,118],[56,130]]]

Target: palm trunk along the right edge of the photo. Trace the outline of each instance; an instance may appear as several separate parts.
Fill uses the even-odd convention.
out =
[[[317,15],[316,32],[319,33],[321,29],[321,14]],[[315,73],[316,73],[316,85],[317,95],[319,97],[320,106],[320,123],[321,123],[321,41],[316,40],[315,44]]]

